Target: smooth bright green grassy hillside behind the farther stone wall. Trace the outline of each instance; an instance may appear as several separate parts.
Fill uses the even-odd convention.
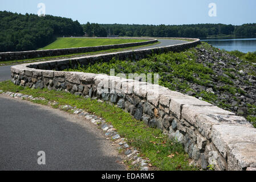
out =
[[[111,44],[123,44],[133,42],[144,42],[146,40],[136,39],[90,39],[90,38],[58,38],[55,42],[49,44],[42,49],[58,49],[58,48],[75,48],[75,47],[91,47],[105,46]]]

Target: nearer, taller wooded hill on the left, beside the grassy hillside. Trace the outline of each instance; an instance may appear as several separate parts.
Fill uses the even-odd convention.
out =
[[[82,35],[82,26],[72,19],[0,11],[0,52],[35,50],[59,36]]]

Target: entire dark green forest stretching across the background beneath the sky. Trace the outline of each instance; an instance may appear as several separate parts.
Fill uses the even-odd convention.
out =
[[[151,36],[206,38],[214,36],[256,36],[256,23],[231,24],[80,24],[69,18],[0,11],[0,52],[30,51],[47,46],[63,36],[107,37]]]

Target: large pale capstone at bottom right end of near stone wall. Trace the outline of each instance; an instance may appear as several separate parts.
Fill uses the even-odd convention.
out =
[[[232,132],[230,132],[232,131]],[[242,170],[256,166],[256,129],[236,125],[213,125],[212,142],[226,158],[229,169]]]

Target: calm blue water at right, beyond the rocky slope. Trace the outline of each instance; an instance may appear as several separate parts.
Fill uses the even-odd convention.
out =
[[[204,39],[201,40],[212,44],[214,47],[225,49],[227,51],[238,50],[241,52],[254,52],[256,51],[256,38],[250,39]]]

